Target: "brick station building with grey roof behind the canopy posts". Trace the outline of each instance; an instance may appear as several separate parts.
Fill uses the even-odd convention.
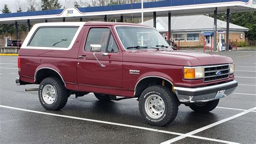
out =
[[[202,47],[205,44],[211,47],[213,39],[214,18],[205,15],[171,17],[171,39],[174,43],[180,41],[181,47]],[[144,25],[153,27],[153,19],[146,20]],[[157,17],[156,29],[165,39],[168,38],[168,17]],[[230,41],[245,42],[245,32],[248,31],[239,25],[230,23]],[[219,38],[226,39],[226,22],[217,20],[217,43]]]

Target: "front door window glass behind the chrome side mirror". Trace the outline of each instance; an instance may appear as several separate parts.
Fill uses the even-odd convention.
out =
[[[90,29],[87,35],[86,43],[85,43],[85,51],[90,51],[91,44],[100,44],[102,45],[102,52],[105,52],[109,35],[110,35],[110,29],[108,28]]]

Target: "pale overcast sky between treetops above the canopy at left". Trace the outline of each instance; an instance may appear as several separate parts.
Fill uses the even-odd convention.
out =
[[[2,10],[4,8],[4,4],[7,4],[9,9],[11,10],[11,12],[17,12],[17,8],[18,8],[18,3],[21,5],[23,11],[26,11],[26,2],[28,0],[0,0],[0,10]],[[40,9],[41,6],[41,0],[36,0],[37,1],[37,5],[35,5],[36,10]],[[73,3],[75,0],[66,0],[67,3],[67,8],[71,8],[73,7]],[[85,1],[89,1],[89,0],[85,0]],[[62,4],[62,8],[65,5],[65,0],[59,0],[60,4]],[[0,12],[2,13],[2,12]]]

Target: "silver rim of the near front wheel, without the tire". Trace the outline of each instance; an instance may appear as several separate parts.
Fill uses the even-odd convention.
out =
[[[149,95],[145,101],[145,111],[153,119],[160,118],[165,111],[164,100],[159,95]]]

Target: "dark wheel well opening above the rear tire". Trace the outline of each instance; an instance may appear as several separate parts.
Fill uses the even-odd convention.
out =
[[[63,81],[62,77],[60,77],[56,71],[53,71],[49,68],[43,68],[42,70],[39,70],[37,72],[36,77],[35,77],[35,84],[40,84],[43,79],[48,78],[48,77],[57,77]],[[63,81],[63,83],[64,83],[64,81]]]

